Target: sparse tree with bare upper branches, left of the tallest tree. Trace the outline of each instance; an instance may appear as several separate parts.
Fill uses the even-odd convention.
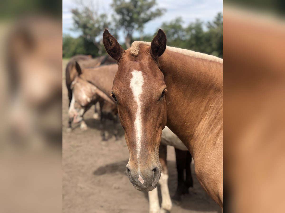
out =
[[[72,10],[72,19],[74,22],[74,30],[81,31],[82,37],[86,43],[93,43],[98,49],[98,54],[101,55],[103,48],[102,34],[106,28],[113,33],[111,22],[108,21],[107,14],[98,14],[93,1],[78,1],[80,9]],[[111,29],[110,29],[111,28]]]

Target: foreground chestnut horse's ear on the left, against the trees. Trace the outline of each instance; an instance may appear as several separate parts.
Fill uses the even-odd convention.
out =
[[[115,39],[107,29],[103,33],[103,44],[107,53],[118,62],[125,50],[121,45],[119,45],[117,39]]]

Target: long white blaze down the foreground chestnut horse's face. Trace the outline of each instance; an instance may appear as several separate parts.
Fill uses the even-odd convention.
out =
[[[135,101],[137,102],[138,108],[136,112],[136,119],[135,119],[135,130],[137,135],[137,155],[139,159],[139,153],[141,150],[141,135],[142,135],[142,121],[141,121],[141,99],[140,95],[143,91],[143,74],[141,71],[134,70],[132,72],[132,79],[130,83],[130,87],[133,91],[133,95],[135,97]]]

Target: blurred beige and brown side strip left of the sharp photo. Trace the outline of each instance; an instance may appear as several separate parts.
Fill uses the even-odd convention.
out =
[[[62,2],[0,3],[0,212],[62,212]]]

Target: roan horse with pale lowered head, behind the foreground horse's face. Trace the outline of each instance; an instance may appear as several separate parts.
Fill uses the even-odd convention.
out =
[[[111,82],[104,83],[101,88],[97,88],[92,83],[89,83],[85,80],[85,75],[82,74],[82,70],[80,65],[76,62],[76,71],[77,76],[74,78],[73,82],[70,85],[70,89],[72,91],[72,100],[70,102],[68,114],[69,120],[73,120],[74,123],[81,122],[83,120],[83,115],[85,112],[97,102],[99,102],[100,109],[101,109],[101,131],[103,141],[106,140],[105,137],[105,120],[113,120],[114,122],[114,135],[116,139],[118,139],[118,130],[117,130],[117,123],[118,123],[118,116],[117,116],[117,106],[114,102],[110,99],[109,96],[105,95],[101,91],[101,88],[104,87],[111,87]],[[99,66],[97,68],[88,68],[86,69],[87,77],[89,77],[89,81],[96,82],[98,80],[104,81],[102,77],[105,76],[107,79],[114,78],[116,70],[118,66],[117,64],[113,65],[104,65]],[[106,88],[105,88],[106,90]]]

